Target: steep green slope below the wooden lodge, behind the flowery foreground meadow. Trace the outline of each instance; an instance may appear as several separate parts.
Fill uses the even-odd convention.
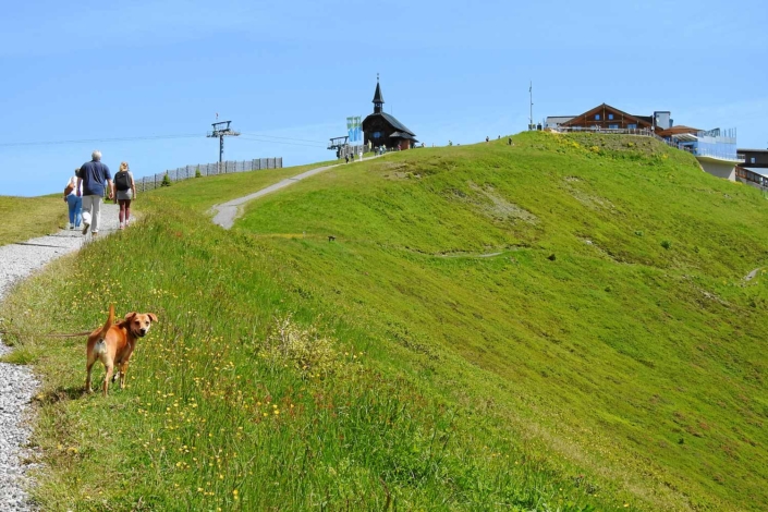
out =
[[[276,241],[297,282],[481,368],[470,389],[498,377],[495,399],[564,453],[635,466],[649,493],[765,503],[766,294],[742,281],[766,264],[765,202],[649,143],[539,135],[399,155],[253,204],[239,227],[319,234]]]

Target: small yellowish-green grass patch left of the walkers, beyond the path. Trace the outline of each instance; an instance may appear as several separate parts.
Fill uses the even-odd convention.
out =
[[[40,197],[0,196],[0,245],[49,234],[68,221],[61,194]]]

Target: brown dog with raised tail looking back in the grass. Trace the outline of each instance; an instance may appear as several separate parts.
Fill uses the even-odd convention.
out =
[[[97,329],[88,337],[88,363],[86,366],[88,376],[85,379],[85,390],[93,392],[90,387],[90,370],[94,364],[100,361],[107,374],[103,378],[103,395],[109,391],[110,379],[114,381],[120,376],[120,389],[125,387],[125,374],[131,354],[136,348],[138,338],[144,338],[153,322],[157,321],[154,313],[129,313],[125,318],[114,324],[114,304],[109,305],[109,316],[107,324],[101,329]],[[118,375],[112,378],[114,365],[118,365]]]

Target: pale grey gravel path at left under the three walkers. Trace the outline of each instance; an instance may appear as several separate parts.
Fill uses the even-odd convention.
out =
[[[65,205],[62,205],[64,208]],[[99,236],[118,229],[118,206],[101,206]],[[21,279],[42,268],[48,261],[80,249],[92,240],[77,230],[32,239],[0,246],[0,300]],[[0,340],[0,356],[11,349]],[[34,510],[27,501],[24,486],[29,481],[23,464],[25,446],[32,434],[28,423],[29,401],[38,380],[27,366],[0,363],[0,511],[26,512]]]

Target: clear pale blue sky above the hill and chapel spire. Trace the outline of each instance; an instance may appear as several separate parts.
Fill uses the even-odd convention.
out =
[[[96,148],[136,176],[214,162],[217,112],[227,159],[327,160],[377,73],[429,146],[525,130],[532,80],[536,121],[605,101],[765,148],[767,59],[765,0],[3,2],[0,195],[61,192]]]

